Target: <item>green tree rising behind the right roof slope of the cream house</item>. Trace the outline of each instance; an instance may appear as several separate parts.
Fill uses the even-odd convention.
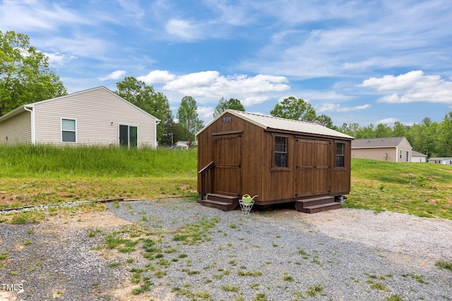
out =
[[[145,82],[132,76],[127,76],[121,82],[117,82],[116,86],[118,89],[115,91],[116,94],[160,119],[160,123],[157,125],[157,141],[162,144],[169,143],[167,133],[172,131],[173,116],[165,94],[156,93],[152,86],[148,86]]]

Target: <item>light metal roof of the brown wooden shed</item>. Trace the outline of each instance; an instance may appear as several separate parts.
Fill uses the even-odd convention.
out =
[[[346,135],[344,133],[340,133],[337,130],[332,130],[331,128],[327,128],[319,123],[311,123],[307,121],[295,121],[292,119],[279,118],[274,116],[263,115],[259,113],[248,113],[243,111],[236,111],[227,109],[223,111],[220,116],[210,121],[204,128],[207,128],[211,123],[222,118],[225,113],[231,113],[234,116],[239,118],[243,118],[246,121],[254,123],[255,125],[260,126],[266,130],[287,130],[290,132],[299,132],[299,133],[308,133],[315,135],[323,135],[323,136],[331,136],[331,137],[341,137],[345,139],[353,139],[352,136]],[[203,129],[204,129],[203,128]],[[201,133],[203,130],[200,130],[198,133]],[[198,134],[196,134],[198,135]]]

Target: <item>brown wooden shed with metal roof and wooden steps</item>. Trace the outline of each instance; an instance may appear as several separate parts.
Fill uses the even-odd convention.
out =
[[[242,195],[254,206],[295,202],[313,213],[350,192],[353,137],[319,123],[226,110],[198,137],[199,202],[225,211]]]

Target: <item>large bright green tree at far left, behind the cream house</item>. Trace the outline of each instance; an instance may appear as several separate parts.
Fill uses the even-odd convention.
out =
[[[67,94],[49,58],[30,44],[27,35],[0,30],[0,116],[22,104]]]

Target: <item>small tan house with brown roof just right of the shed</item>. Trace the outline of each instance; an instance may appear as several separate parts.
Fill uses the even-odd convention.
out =
[[[410,162],[412,147],[405,137],[355,139],[352,141],[352,158],[391,162]]]

